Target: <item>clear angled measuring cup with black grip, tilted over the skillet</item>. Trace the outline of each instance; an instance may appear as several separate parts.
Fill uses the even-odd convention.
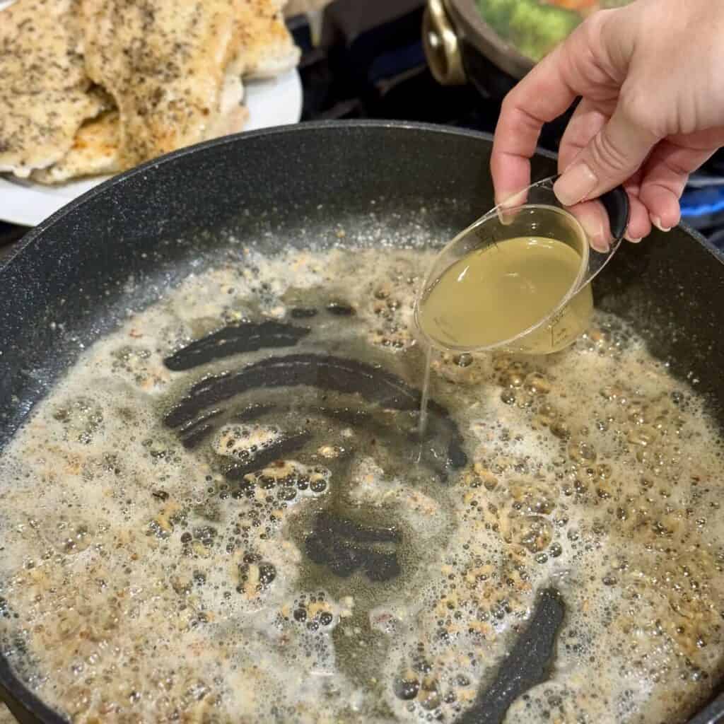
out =
[[[628,196],[622,188],[617,188],[595,201],[564,207],[553,193],[556,178],[539,181],[518,194],[512,202],[496,206],[442,249],[415,303],[417,327],[430,345],[458,353],[500,349],[550,354],[567,347],[584,332],[593,311],[590,282],[607,264],[623,239],[628,224]],[[461,260],[471,258],[473,253],[505,251],[506,240],[521,238],[529,238],[531,243],[533,240],[563,243],[575,252],[578,269],[570,285],[560,292],[560,298],[555,297],[552,304],[540,310],[531,310],[529,324],[507,338],[486,337],[482,333],[486,319],[482,318],[474,319],[468,325],[473,330],[475,325],[479,325],[479,337],[475,337],[473,332],[464,339],[451,341],[451,337],[432,334],[430,325],[426,329],[426,301],[447,272],[457,273],[462,267],[456,265],[464,266]],[[505,306],[506,297],[502,295],[500,309],[495,313],[505,314]],[[469,308],[467,313],[474,315],[475,310]],[[490,320],[488,324],[492,328]]]

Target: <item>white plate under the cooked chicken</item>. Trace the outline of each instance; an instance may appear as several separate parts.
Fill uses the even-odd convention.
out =
[[[302,116],[302,82],[296,69],[274,80],[245,81],[244,92],[249,109],[249,122],[244,130],[298,123]],[[59,186],[43,186],[0,175],[0,220],[35,226],[106,178],[96,176]]]

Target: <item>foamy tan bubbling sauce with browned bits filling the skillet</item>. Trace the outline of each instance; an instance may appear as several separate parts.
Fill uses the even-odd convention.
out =
[[[419,384],[429,261],[248,250],[133,313],[37,406],[0,460],[0,635],[43,701],[78,722],[454,721],[550,586],[550,679],[508,722],[675,722],[712,691],[720,431],[612,316],[550,358],[439,355],[432,396],[468,453],[444,475],[414,464],[414,413],[356,393],[262,386],[164,423],[269,358],[164,364],[245,321]]]

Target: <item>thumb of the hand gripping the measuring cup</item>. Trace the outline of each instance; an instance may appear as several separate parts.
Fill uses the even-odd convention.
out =
[[[597,198],[626,182],[658,139],[619,103],[613,116],[565,169],[553,190],[563,206]]]

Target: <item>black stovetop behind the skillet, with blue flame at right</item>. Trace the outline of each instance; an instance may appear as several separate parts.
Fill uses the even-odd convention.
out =
[[[324,11],[321,34],[306,17],[291,18],[303,51],[302,120],[400,119],[492,133],[500,98],[484,98],[471,85],[443,87],[432,77],[421,43],[423,11],[423,0],[334,0]],[[541,146],[556,151],[562,130],[560,122],[545,127]],[[723,153],[696,175],[682,208],[687,223],[724,248]],[[0,258],[26,231],[0,222]]]

